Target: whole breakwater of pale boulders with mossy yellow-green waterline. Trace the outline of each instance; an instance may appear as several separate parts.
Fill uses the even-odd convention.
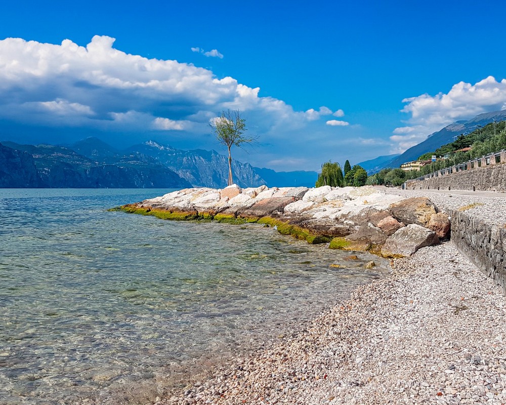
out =
[[[117,209],[172,220],[256,222],[331,249],[410,256],[446,238],[450,221],[425,197],[374,187],[188,188]]]

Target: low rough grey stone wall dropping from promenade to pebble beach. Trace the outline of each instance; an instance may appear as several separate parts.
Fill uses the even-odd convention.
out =
[[[460,253],[502,286],[506,294],[506,228],[465,211],[452,211],[451,241]]]

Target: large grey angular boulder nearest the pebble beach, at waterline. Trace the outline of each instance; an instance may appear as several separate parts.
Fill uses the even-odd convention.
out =
[[[409,224],[388,237],[381,253],[385,257],[408,257],[420,248],[437,243],[439,238],[436,232],[417,224]]]

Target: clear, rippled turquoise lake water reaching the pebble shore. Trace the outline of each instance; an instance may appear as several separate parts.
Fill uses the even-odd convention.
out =
[[[0,403],[139,402],[377,277],[272,228],[106,211],[168,191],[0,189]]]

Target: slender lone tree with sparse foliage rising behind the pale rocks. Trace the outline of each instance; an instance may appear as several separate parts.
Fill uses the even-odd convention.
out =
[[[246,120],[241,118],[239,110],[222,111],[220,116],[209,124],[216,135],[216,139],[228,148],[228,185],[234,184],[232,180],[232,155],[230,148],[235,145],[242,148],[243,143],[255,141],[255,137],[246,137]]]

